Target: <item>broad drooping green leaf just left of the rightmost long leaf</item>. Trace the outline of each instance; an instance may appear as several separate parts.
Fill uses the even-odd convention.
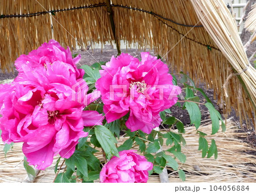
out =
[[[195,124],[196,129],[199,128],[201,123],[201,112],[199,106],[195,102],[185,102],[185,107],[188,110],[191,124]]]

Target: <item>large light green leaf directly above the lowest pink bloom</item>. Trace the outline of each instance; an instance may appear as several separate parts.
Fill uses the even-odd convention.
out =
[[[101,144],[101,147],[104,149],[108,160],[112,157],[112,155],[119,157],[117,147],[115,147],[117,140],[113,136],[112,132],[102,125],[97,125],[94,128],[96,138]]]

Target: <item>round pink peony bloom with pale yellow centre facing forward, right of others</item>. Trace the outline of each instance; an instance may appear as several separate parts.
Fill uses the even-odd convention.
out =
[[[112,57],[102,66],[96,88],[108,123],[130,113],[127,128],[150,134],[162,121],[160,111],[176,104],[181,89],[172,84],[168,66],[160,59],[149,53],[141,53],[141,57],[141,62],[129,54]]]

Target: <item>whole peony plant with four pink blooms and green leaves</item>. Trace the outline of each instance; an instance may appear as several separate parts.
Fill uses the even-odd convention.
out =
[[[183,72],[181,90],[159,57],[141,53],[139,61],[122,53],[109,62],[77,68],[80,58],[50,40],[20,55],[15,61],[18,76],[13,83],[0,85],[1,137],[6,146],[23,143],[29,174],[35,175],[31,165],[44,170],[59,155],[55,182],[142,183],[163,168],[176,170],[184,181],[179,162],[186,160],[181,152],[185,129],[170,108],[187,109],[197,129],[198,105],[205,105],[213,122],[212,134],[218,131],[219,121],[225,130],[220,113],[203,90]],[[179,101],[181,92],[185,100]],[[207,103],[200,103],[196,92]],[[208,147],[207,134],[196,132],[202,157],[217,158],[215,141]],[[121,134],[125,141],[119,145]],[[164,144],[170,149],[164,151]],[[102,153],[104,161],[96,153]]]

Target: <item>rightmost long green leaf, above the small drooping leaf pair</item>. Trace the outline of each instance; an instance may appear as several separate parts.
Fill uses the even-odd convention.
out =
[[[226,126],[225,123],[222,121],[221,114],[209,102],[207,102],[205,106],[208,108],[210,112],[210,119],[212,120],[212,135],[218,132],[218,129],[220,128],[220,121],[222,132],[224,132],[226,130]]]

